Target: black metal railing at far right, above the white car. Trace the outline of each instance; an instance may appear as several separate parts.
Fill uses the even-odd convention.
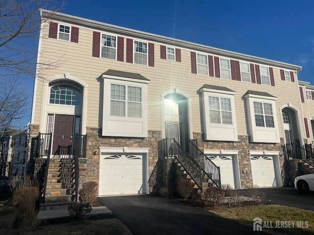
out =
[[[286,144],[284,145],[284,153],[286,159],[300,159],[314,167],[314,149],[311,144],[305,144],[304,147],[296,143]]]

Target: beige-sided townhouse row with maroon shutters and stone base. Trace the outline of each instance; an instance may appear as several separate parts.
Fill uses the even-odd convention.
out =
[[[80,183],[98,181],[100,196],[149,193],[157,162],[170,156],[160,148],[165,138],[187,153],[197,140],[220,166],[221,183],[233,188],[291,181],[282,145],[313,141],[314,110],[299,91],[314,89],[298,85],[300,66],[47,10],[41,15],[51,18],[41,28],[38,65],[54,64],[35,78],[30,137],[48,133],[39,138],[45,154],[51,144],[52,157],[71,158],[75,134],[86,135]]]

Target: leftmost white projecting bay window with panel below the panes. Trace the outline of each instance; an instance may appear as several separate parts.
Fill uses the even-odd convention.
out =
[[[147,137],[149,80],[103,74],[103,136]]]

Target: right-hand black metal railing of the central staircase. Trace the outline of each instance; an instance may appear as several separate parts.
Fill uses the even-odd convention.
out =
[[[197,147],[197,140],[189,141],[189,150],[190,156],[202,167],[203,174],[206,174],[212,183],[221,188],[220,167],[214,164],[203,151]]]

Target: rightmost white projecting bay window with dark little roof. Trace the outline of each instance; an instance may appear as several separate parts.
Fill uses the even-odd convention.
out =
[[[246,99],[250,141],[280,143],[275,104],[277,98],[257,91],[248,91],[244,98]]]

